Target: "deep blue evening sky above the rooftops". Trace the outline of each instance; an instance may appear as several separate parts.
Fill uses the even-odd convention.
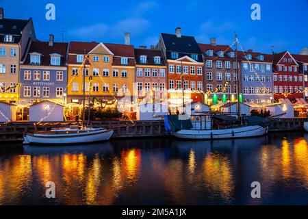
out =
[[[55,4],[55,21],[45,18],[47,3]],[[251,19],[251,5],[261,5],[261,21]],[[124,42],[131,32],[131,44],[156,44],[159,33],[175,32],[195,36],[208,43],[231,44],[234,31],[245,49],[270,53],[289,50],[298,53],[308,47],[308,0],[0,0],[7,18],[34,19],[39,40],[49,34],[61,41]]]

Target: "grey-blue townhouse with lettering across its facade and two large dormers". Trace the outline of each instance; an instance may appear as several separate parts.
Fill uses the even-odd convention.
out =
[[[54,42],[53,35],[47,42],[31,42],[21,62],[21,100],[66,103],[67,50],[68,43]]]

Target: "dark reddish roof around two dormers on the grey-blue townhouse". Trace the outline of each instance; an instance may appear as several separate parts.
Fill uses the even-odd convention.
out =
[[[40,65],[41,66],[51,66],[51,54],[58,53],[61,55],[61,66],[66,65],[66,53],[68,49],[67,42],[53,42],[53,47],[49,46],[49,42],[42,42],[36,40],[36,42],[31,42],[29,53],[23,64],[30,64],[30,53],[40,53],[42,54]]]

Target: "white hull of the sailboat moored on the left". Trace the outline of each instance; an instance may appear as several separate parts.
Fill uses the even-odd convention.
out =
[[[109,140],[113,132],[113,130],[97,129],[79,133],[35,133],[25,134],[25,138],[29,144],[86,144]]]

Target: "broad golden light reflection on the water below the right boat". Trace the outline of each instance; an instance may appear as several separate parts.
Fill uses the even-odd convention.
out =
[[[228,157],[214,153],[205,157],[203,175],[209,190],[226,200],[232,197],[234,183]]]

